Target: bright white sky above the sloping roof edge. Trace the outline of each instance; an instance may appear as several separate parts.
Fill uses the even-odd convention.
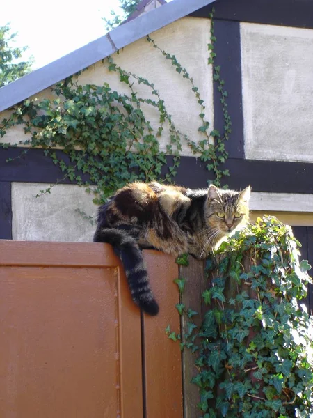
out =
[[[33,55],[35,70],[104,35],[102,17],[118,6],[118,0],[5,1],[0,26],[11,23],[15,45],[29,46],[25,58]]]

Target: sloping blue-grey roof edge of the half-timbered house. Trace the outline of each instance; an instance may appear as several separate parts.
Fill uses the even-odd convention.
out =
[[[0,111],[22,102],[31,95],[106,58],[118,49],[214,1],[216,0],[173,0],[162,7],[142,13],[136,19],[129,20],[88,45],[0,88]]]

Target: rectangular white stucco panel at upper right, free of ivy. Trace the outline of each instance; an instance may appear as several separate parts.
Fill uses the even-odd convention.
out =
[[[313,162],[313,30],[241,23],[246,158]]]

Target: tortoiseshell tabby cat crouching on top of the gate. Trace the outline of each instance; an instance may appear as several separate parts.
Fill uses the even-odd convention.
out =
[[[95,242],[107,242],[121,259],[136,304],[157,315],[141,249],[203,259],[216,243],[248,221],[250,186],[242,192],[191,190],[152,183],[131,183],[99,208]]]

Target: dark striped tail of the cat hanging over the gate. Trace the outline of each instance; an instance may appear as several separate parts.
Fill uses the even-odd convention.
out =
[[[101,228],[97,229],[94,241],[107,242],[112,245],[115,254],[124,265],[132,299],[147,314],[157,315],[159,305],[150,289],[147,268],[136,240],[126,231]]]

